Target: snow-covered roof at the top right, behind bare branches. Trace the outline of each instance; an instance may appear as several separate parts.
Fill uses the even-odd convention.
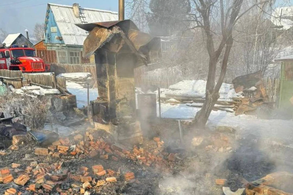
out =
[[[271,21],[281,30],[293,27],[293,6],[277,7],[272,13]]]

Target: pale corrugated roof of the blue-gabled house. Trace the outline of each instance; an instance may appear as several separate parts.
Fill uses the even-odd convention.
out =
[[[66,45],[83,45],[87,32],[75,24],[106,22],[118,20],[118,12],[107,10],[82,8],[80,7],[81,17],[74,16],[73,6],[59,5],[48,3],[47,10],[51,9],[54,15],[57,26]],[[45,29],[48,18],[45,20]]]

